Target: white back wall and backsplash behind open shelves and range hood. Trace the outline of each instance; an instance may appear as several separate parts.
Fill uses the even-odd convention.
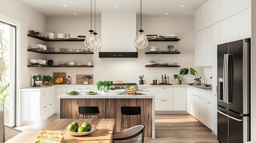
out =
[[[137,30],[139,23],[137,18]],[[87,35],[90,29],[90,17],[47,17],[47,32],[63,32],[77,35],[81,33]],[[97,32],[100,36],[100,17],[97,17]],[[113,27],[114,30],[115,27]],[[144,74],[146,83],[152,83],[153,76],[158,78],[162,74],[166,74],[172,83],[177,83],[173,75],[179,73],[181,68],[194,65],[193,52],[193,17],[143,17],[143,30],[146,34],[166,34],[178,33],[179,42],[150,42],[149,46],[144,50],[138,51],[138,58],[98,58],[98,51],[93,55],[46,55],[47,60],[53,59],[54,64],[60,61],[75,61],[80,64],[81,58],[87,58],[92,61],[94,68],[47,68],[47,74],[53,72],[66,72],[67,76],[72,77],[72,83],[75,83],[76,74],[93,74],[94,84],[98,80],[123,80],[124,82],[137,82],[138,76]],[[125,33],[124,33],[125,35]],[[135,37],[134,37],[135,39]],[[115,42],[114,39],[110,39]],[[58,48],[85,48],[84,42],[47,42],[51,47],[58,51]],[[167,48],[167,45],[178,46],[181,51],[179,55],[145,55],[145,51],[149,51],[150,46],[156,46],[158,49]],[[122,45],[121,45],[122,46]],[[144,62],[147,60],[155,60],[157,62],[166,61],[171,63],[174,60],[181,65],[181,68],[146,68]],[[202,69],[196,68],[200,76]],[[193,82],[194,77],[185,76],[188,82]]]

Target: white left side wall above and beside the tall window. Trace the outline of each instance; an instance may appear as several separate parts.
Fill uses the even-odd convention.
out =
[[[33,55],[32,53],[27,52],[27,48],[30,45],[35,45],[35,43],[43,42],[27,37],[27,33],[28,30],[44,32],[45,16],[28,7],[27,5],[23,4],[22,2],[16,0],[1,1],[0,14],[2,15],[2,17],[6,17],[7,22],[16,24],[13,23],[12,21],[17,21],[17,23],[20,24],[18,25],[18,51],[20,52],[20,54],[18,55],[18,66],[20,68],[20,73],[18,73],[18,81],[20,88],[30,86],[30,75],[44,73],[44,70],[27,68],[28,59],[31,57],[31,55]],[[0,20],[3,20],[1,16]],[[36,55],[33,57],[41,58],[43,56]]]

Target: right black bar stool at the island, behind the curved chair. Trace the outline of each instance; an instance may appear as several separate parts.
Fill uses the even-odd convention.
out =
[[[138,115],[139,123],[141,125],[141,107],[121,107],[122,119],[121,119],[121,131],[124,128],[130,128],[129,126],[129,116],[130,115]],[[124,127],[124,116],[128,115],[128,127]]]

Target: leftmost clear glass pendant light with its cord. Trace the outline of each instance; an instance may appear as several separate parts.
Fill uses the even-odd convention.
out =
[[[91,0],[91,11],[92,11],[92,0]],[[91,25],[92,25],[92,12],[91,12]],[[94,33],[94,31],[91,28],[91,30],[88,31],[88,35],[87,35],[87,37],[85,38],[85,41],[84,41],[85,46],[88,49],[94,49],[95,45],[97,45],[93,33]]]

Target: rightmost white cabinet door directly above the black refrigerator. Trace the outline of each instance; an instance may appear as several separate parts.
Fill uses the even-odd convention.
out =
[[[251,38],[251,8],[239,13],[239,39]]]

